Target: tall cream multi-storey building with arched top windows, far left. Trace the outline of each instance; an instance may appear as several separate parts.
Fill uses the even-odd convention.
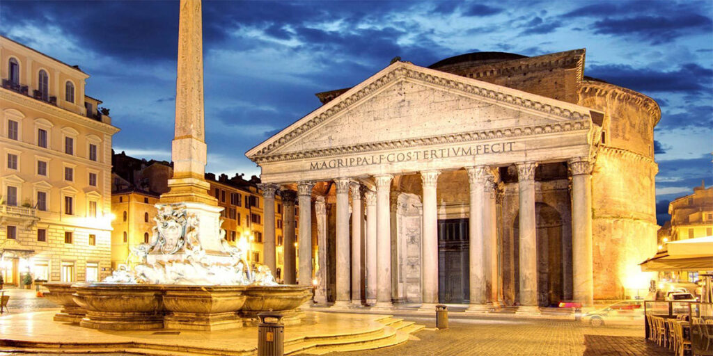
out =
[[[110,271],[111,125],[76,66],[0,36],[0,253],[5,283]]]

